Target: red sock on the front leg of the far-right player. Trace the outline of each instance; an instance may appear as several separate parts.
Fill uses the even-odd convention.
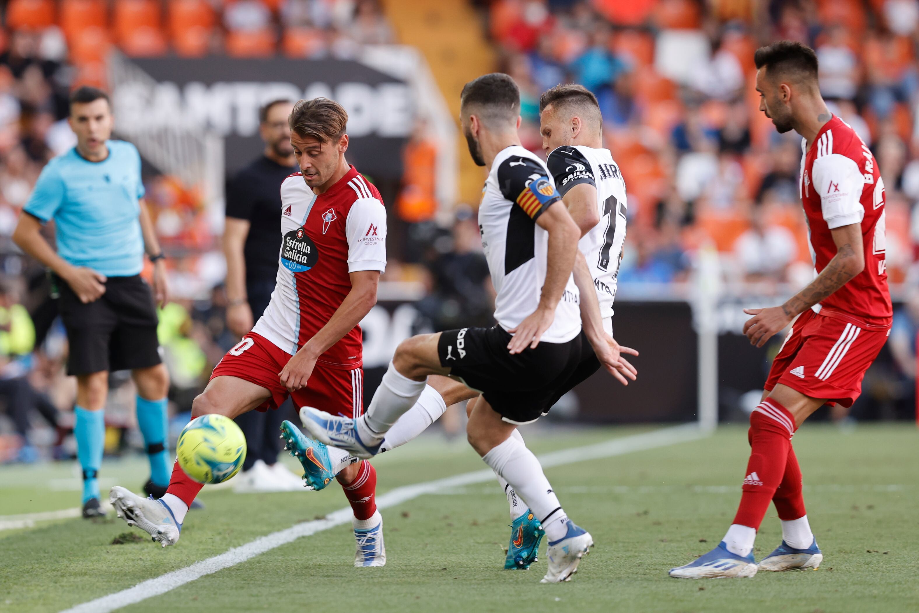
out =
[[[759,529],[769,503],[785,475],[795,420],[788,410],[766,398],[750,415],[750,461],[743,479],[741,505],[733,524]]]

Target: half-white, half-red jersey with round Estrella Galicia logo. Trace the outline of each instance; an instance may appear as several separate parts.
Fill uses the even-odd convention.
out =
[[[293,355],[332,318],[351,290],[348,273],[386,268],[386,210],[380,192],[354,166],[316,196],[300,173],[281,184],[278,280],[253,332]],[[355,326],[319,358],[326,366],[361,366]]]

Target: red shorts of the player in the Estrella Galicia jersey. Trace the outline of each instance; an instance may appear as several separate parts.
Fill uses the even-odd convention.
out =
[[[258,411],[277,409],[288,396],[299,409],[314,406],[334,415],[357,417],[364,407],[364,370],[332,368],[316,362],[305,388],[290,393],[281,383],[279,373],[291,358],[264,336],[249,333],[233,346],[214,367],[210,378],[238,377],[271,392],[271,398]]]

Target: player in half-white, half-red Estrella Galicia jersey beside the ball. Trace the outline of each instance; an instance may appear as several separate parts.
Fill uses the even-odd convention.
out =
[[[284,240],[277,286],[252,332],[214,369],[192,417],[277,409],[289,395],[297,406],[331,406],[349,416],[363,406],[358,323],[376,303],[386,267],[386,210],[376,187],[345,160],[344,108],[322,97],[301,100],[289,123],[301,172],[280,186]],[[353,460],[336,478],[354,510],[355,565],[381,566],[377,474],[368,461]],[[112,488],[110,500],[121,517],[165,547],[176,544],[201,487],[176,463],[159,500],[123,487]]]

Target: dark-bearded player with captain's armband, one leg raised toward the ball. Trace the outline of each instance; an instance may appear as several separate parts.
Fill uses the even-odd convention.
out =
[[[489,168],[479,225],[497,290],[498,325],[409,338],[396,349],[367,414],[350,419],[304,407],[301,418],[324,444],[369,458],[413,407],[429,375],[449,375],[482,391],[467,426],[470,443],[539,518],[549,539],[549,570],[542,581],[567,581],[594,540],[565,515],[539,460],[514,433],[571,389],[575,370],[590,352],[588,338],[607,368],[626,367],[615,342],[602,333],[592,291],[585,297],[582,333],[572,278],[580,231],[546,166],[520,146],[516,84],[506,74],[486,74],[467,84],[460,100],[472,158]]]

